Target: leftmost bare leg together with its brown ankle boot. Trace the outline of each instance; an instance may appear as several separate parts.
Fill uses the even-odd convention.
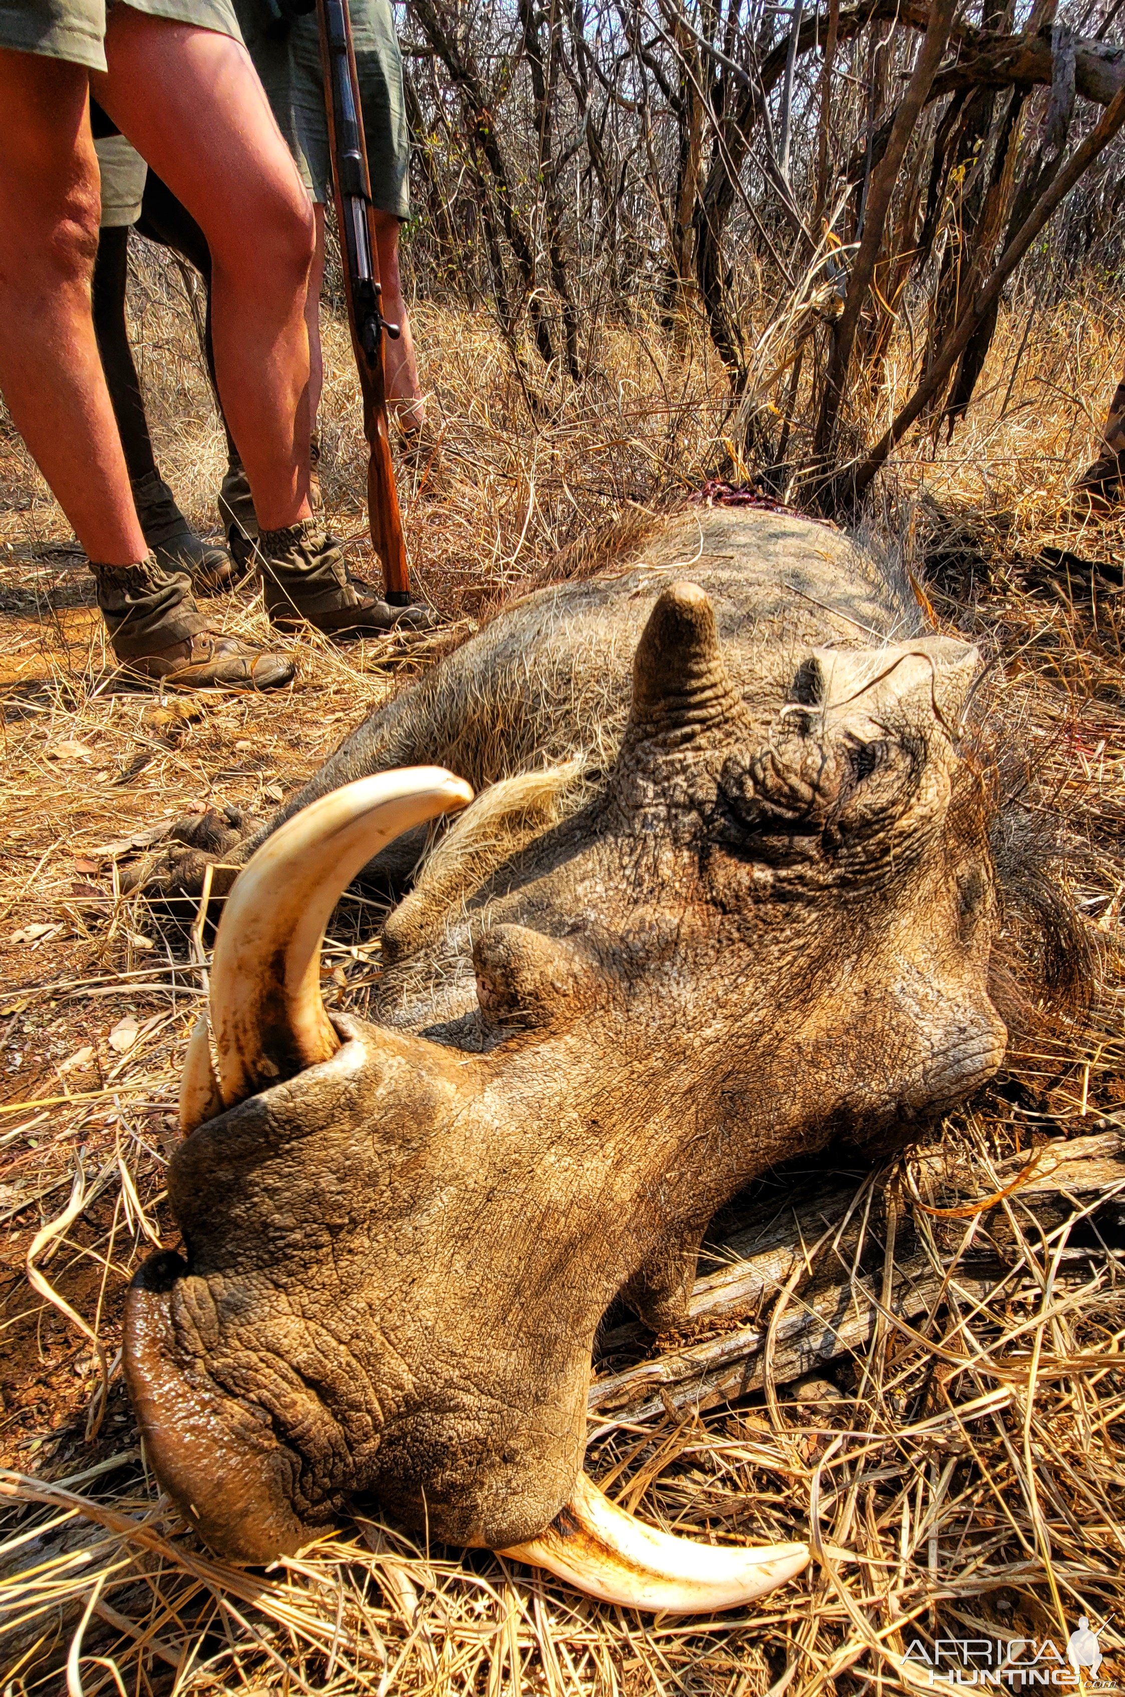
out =
[[[183,574],[149,557],[92,316],[100,180],[88,76],[0,49],[0,387],[90,557],[117,658],[171,687],[273,689],[294,669],[209,630]]]

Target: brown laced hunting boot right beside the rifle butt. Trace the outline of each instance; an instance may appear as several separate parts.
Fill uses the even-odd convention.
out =
[[[302,619],[326,636],[382,636],[383,631],[428,631],[438,624],[431,608],[392,606],[370,584],[351,577],[339,543],[321,519],[302,519],[258,538],[270,624],[280,631]]]

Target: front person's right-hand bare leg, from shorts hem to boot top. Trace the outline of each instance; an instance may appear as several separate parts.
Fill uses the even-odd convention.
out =
[[[210,248],[222,407],[263,529],[311,516],[309,197],[249,54],[215,31],[115,5],[97,97]]]

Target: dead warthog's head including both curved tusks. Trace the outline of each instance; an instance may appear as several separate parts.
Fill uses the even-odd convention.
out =
[[[957,750],[976,652],[767,664],[760,718],[702,591],[662,594],[607,781],[465,927],[460,1023],[329,1020],[319,994],[339,891],[468,803],[458,779],[350,784],[241,874],[168,1176],[187,1261],[143,1269],[126,1347],[148,1454],[215,1549],[270,1560],[370,1492],[628,1602],[714,1607],[804,1563],[662,1543],[596,1492],[596,1327],[626,1286],[682,1285],[675,1246],[755,1173],[964,1096],[1005,1027]]]

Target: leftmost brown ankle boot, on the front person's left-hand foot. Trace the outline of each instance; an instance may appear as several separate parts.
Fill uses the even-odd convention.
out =
[[[187,572],[153,555],[137,565],[90,563],[114,653],[134,677],[165,689],[280,689],[294,665],[212,630]]]

